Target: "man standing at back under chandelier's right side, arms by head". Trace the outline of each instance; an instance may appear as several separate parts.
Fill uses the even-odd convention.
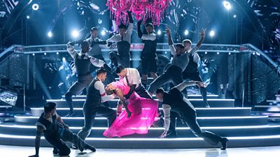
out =
[[[137,22],[137,31],[138,36],[144,40],[144,48],[141,53],[141,77],[142,84],[146,87],[148,81],[148,73],[151,74],[151,77],[155,80],[158,75],[158,63],[157,63],[157,36],[155,35],[155,30],[152,23],[147,23],[145,25],[146,31],[148,34],[143,34],[141,31],[142,20]]]

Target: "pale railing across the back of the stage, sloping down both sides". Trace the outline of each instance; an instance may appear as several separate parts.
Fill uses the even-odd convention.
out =
[[[141,50],[143,49],[143,46],[144,46],[143,43],[133,43],[131,45],[133,61],[140,60],[139,55],[141,54]],[[193,44],[193,46],[195,46],[195,44]],[[80,50],[80,47],[78,47],[77,45],[75,46],[75,48],[76,48],[76,50]],[[110,52],[110,51],[116,51],[116,45],[113,45],[112,47],[108,47],[107,49],[102,49],[103,54],[106,56],[106,57],[104,57],[105,59],[109,59],[108,52]],[[10,57],[10,55],[14,54],[14,53],[23,54],[24,56],[27,56],[27,58],[29,58],[29,57],[31,57],[30,54],[42,55],[42,54],[54,54],[57,52],[59,52],[59,54],[62,53],[62,55],[64,55],[64,54],[68,55],[67,51],[66,51],[66,44],[31,45],[31,46],[13,45],[13,46],[9,47],[7,50],[5,50],[4,52],[0,53],[0,66],[1,66],[1,63],[3,63],[3,61],[5,61],[5,59]],[[139,53],[137,53],[137,52],[139,52]],[[158,54],[163,54],[163,55],[167,56],[168,58],[171,57],[169,45],[167,45],[167,43],[158,43],[157,52],[158,52]],[[274,61],[272,61],[272,59],[270,59],[264,52],[262,52],[257,47],[255,47],[254,45],[251,45],[251,44],[243,44],[243,45],[202,44],[202,47],[200,47],[200,50],[198,50],[197,52],[199,54],[202,54],[201,55],[202,58],[203,58],[203,56],[209,55],[209,54],[211,54],[211,55],[228,54],[229,55],[228,58],[230,58],[230,54],[232,54],[232,57],[235,55],[236,61],[235,61],[235,63],[232,64],[232,66],[236,66],[237,67],[236,69],[240,70],[240,71],[235,73],[235,77],[237,77],[237,78],[235,78],[236,80],[234,80],[234,81],[237,81],[239,79],[238,73],[241,73],[241,64],[243,64],[242,63],[243,57],[247,57],[248,60],[259,59],[263,63],[263,65],[260,65],[260,66],[267,65],[268,67],[270,67],[271,70],[276,69],[275,78],[279,78],[280,67]],[[27,59],[27,61],[29,61],[29,59]],[[232,60],[228,60],[228,61],[232,61]],[[252,63],[249,63],[248,66],[251,66],[251,64]],[[243,68],[244,67],[246,67],[246,65],[244,65]],[[250,68],[251,72],[253,72],[255,68],[256,67],[251,67]],[[1,72],[1,70],[0,70],[0,72]],[[252,84],[255,83],[255,80],[260,81],[260,80],[263,80],[267,76],[265,71],[263,74],[260,74],[258,76],[255,76],[251,72],[250,72],[250,70],[247,70],[246,73],[242,74],[242,75],[244,75],[243,76],[244,78],[239,79],[239,84],[238,84],[238,85],[241,84],[240,85],[241,87],[236,88],[238,90],[237,97],[240,96],[240,98],[242,99],[242,105],[244,105],[244,100],[248,100],[248,101],[253,100],[253,98],[251,98],[251,96],[253,96],[255,93],[258,93],[261,90],[261,89],[258,89],[258,90],[254,91],[253,88],[251,89],[251,87],[254,86]],[[27,73],[30,73],[30,72],[28,71]],[[267,73],[269,73],[269,70]],[[246,75],[248,76],[248,78],[246,77]],[[269,73],[269,75],[274,75],[274,72]],[[232,78],[230,78],[230,79],[232,79]],[[27,82],[25,82],[25,83],[27,83]],[[237,84],[235,84],[235,85],[237,85]],[[265,89],[265,87],[266,86],[264,86],[263,89]],[[276,87],[280,87],[280,84],[276,84],[274,89]],[[246,95],[250,95],[250,96],[248,96],[248,98],[246,98]]]

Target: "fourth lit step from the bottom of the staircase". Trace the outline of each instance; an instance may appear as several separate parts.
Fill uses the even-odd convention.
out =
[[[116,110],[116,108],[113,108]],[[162,108],[160,108],[162,110]],[[230,117],[230,116],[249,116],[251,107],[213,107],[213,108],[196,108],[197,117]],[[40,116],[43,112],[43,107],[31,108],[32,116]],[[75,117],[83,117],[83,108],[74,108]],[[65,116],[69,113],[69,108],[57,108],[57,113],[60,116]]]

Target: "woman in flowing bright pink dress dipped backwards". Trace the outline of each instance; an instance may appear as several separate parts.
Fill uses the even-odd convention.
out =
[[[125,110],[104,131],[103,135],[106,137],[122,137],[134,133],[148,133],[148,128],[158,117],[158,102],[141,98],[133,92],[128,100],[128,105],[126,105],[123,95],[130,91],[130,87],[125,86],[123,82],[112,82],[106,87],[106,91],[109,93],[113,91],[120,98]]]

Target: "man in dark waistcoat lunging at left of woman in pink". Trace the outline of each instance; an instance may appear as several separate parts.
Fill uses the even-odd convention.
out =
[[[100,68],[97,70],[97,77],[92,80],[90,86],[87,90],[87,98],[83,105],[83,115],[85,117],[85,124],[78,132],[78,136],[85,140],[85,138],[90,135],[92,130],[92,124],[95,119],[95,115],[100,114],[101,117],[106,117],[108,119],[108,127],[111,126],[113,121],[117,117],[117,113],[115,110],[101,106],[101,103],[112,100],[115,96],[107,96],[104,89],[104,80],[106,79],[106,70]]]

